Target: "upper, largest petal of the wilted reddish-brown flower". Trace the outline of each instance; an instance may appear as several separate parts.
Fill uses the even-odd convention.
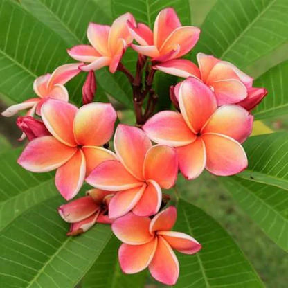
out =
[[[61,205],[58,208],[58,213],[64,221],[73,223],[91,216],[97,210],[99,210],[98,204],[92,197],[86,196]]]

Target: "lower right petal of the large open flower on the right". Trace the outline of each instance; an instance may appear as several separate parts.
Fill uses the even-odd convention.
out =
[[[233,138],[212,133],[206,133],[201,138],[206,146],[206,169],[209,172],[219,176],[230,176],[247,167],[245,151]]]

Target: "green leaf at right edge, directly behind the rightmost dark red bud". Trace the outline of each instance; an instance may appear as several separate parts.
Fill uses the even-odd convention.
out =
[[[288,112],[288,61],[282,62],[255,80],[255,87],[265,87],[268,95],[253,110],[256,119],[265,119]]]

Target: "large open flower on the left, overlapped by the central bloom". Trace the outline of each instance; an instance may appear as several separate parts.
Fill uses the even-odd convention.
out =
[[[100,147],[114,131],[116,111],[107,103],[90,103],[80,109],[61,100],[47,100],[42,120],[52,134],[28,143],[18,163],[32,172],[57,169],[55,184],[62,196],[72,199],[85,175],[114,153]]]

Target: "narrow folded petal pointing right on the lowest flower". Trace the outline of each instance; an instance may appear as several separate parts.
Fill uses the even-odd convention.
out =
[[[181,253],[195,254],[201,249],[201,244],[190,235],[174,231],[160,231],[157,234],[161,235],[172,249],[176,249]]]

